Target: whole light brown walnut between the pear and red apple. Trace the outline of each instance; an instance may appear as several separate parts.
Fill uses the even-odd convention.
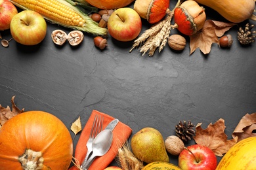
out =
[[[165,139],[165,148],[167,152],[174,156],[179,155],[184,147],[183,141],[175,135],[171,135]]]

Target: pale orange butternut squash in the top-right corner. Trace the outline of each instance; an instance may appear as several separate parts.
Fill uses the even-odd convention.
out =
[[[226,20],[240,23],[249,19],[255,9],[255,0],[194,0],[216,10]]]

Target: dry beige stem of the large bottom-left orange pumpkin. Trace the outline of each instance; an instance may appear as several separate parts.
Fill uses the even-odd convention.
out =
[[[25,170],[43,169],[43,154],[35,152],[31,149],[26,149],[25,153],[18,158]]]

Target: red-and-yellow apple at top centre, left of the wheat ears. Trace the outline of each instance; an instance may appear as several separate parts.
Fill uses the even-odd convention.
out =
[[[115,10],[108,19],[108,32],[118,41],[132,41],[142,28],[139,14],[131,8]]]

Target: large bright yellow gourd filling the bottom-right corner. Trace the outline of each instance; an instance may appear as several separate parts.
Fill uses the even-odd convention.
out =
[[[234,144],[223,156],[216,170],[256,169],[256,137],[248,137]]]

